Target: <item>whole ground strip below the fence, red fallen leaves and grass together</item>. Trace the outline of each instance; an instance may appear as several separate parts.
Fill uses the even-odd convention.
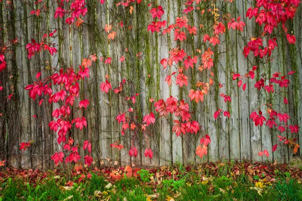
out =
[[[302,200],[301,183],[286,164],[2,168],[0,200]]]

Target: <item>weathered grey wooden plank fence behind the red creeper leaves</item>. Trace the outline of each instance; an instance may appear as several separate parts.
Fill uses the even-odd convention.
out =
[[[58,1],[60,2],[60,1]],[[107,4],[108,2],[108,4]],[[243,32],[226,30],[226,33],[219,38],[220,45],[212,48],[217,57],[214,60],[215,79],[210,87],[209,93],[205,96],[203,103],[193,105],[188,98],[188,90],[197,80],[208,81],[203,72],[197,68],[189,69],[186,75],[189,84],[185,88],[179,88],[175,83],[171,87],[165,82],[168,75],[160,61],[169,56],[169,50],[179,44],[169,34],[151,34],[147,31],[147,25],[152,21],[147,7],[148,1],[143,0],[137,5],[133,4],[133,13],[130,14],[129,7],[116,6],[117,0],[108,0],[101,5],[98,0],[86,0],[88,13],[84,23],[79,28],[73,24],[65,24],[66,16],[62,19],[54,19],[54,12],[58,4],[51,0],[43,0],[47,7],[40,13],[40,16],[30,15],[31,10],[37,9],[34,1],[2,1],[0,3],[0,39],[2,44],[10,44],[10,41],[17,39],[6,53],[8,63],[7,69],[0,73],[0,80],[4,86],[0,91],[0,160],[8,159],[9,165],[23,168],[51,168],[53,162],[51,155],[57,152],[57,135],[50,131],[48,123],[52,120],[51,112],[57,107],[56,104],[48,105],[43,103],[39,106],[39,99],[33,101],[29,98],[25,86],[35,80],[37,72],[42,72],[42,77],[49,76],[48,66],[55,69],[65,68],[72,65],[77,67],[81,64],[82,58],[96,53],[100,56],[112,58],[110,67],[100,59],[90,68],[90,79],[83,82],[85,97],[90,98],[91,105],[84,112],[88,120],[88,127],[83,131],[74,130],[70,135],[74,142],[83,145],[85,140],[93,143],[93,158],[106,162],[106,158],[118,161],[118,165],[134,163],[136,165],[166,165],[170,163],[191,163],[207,162],[217,160],[253,160],[253,161],[274,161],[286,163],[289,161],[292,151],[286,146],[278,147],[276,152],[271,147],[278,143],[278,132],[271,131],[268,127],[255,127],[249,118],[252,111],[266,104],[268,101],[279,107],[282,111],[288,111],[291,117],[290,124],[302,126],[301,112],[302,104],[302,11],[299,7],[292,22],[288,24],[294,30],[296,45],[289,46],[286,38],[279,34],[278,47],[273,51],[274,59],[268,63],[261,63],[253,57],[245,58],[243,48],[250,40],[250,37],[257,34],[259,27],[253,20],[245,17],[246,11],[252,6],[250,0],[234,0],[226,4],[225,1],[216,1],[223,12],[230,13],[233,17],[242,17],[246,22]],[[165,11],[162,20],[175,23],[176,17],[183,16],[183,1],[181,0],[158,0]],[[65,9],[68,8],[64,2]],[[210,2],[203,4],[210,5]],[[218,7],[218,6],[217,6]],[[220,10],[218,12],[221,12]],[[199,27],[200,24],[209,24],[212,19],[205,18],[200,11],[194,11],[187,15],[188,24]],[[119,23],[123,21],[123,28]],[[112,24],[113,30],[117,32],[114,40],[107,40],[107,33],[104,31],[106,24]],[[117,27],[119,29],[117,30]],[[57,30],[53,40],[57,44],[58,52],[53,56],[41,52],[30,60],[27,58],[26,44],[31,38],[41,41],[42,34],[46,30]],[[203,32],[198,29],[197,36],[188,36],[188,39],[181,43],[181,47],[187,53],[193,53],[196,49],[202,51],[208,45],[203,43]],[[283,34],[284,35],[284,34]],[[12,44],[12,43],[11,43]],[[127,51],[126,51],[127,49]],[[141,59],[136,54],[141,52]],[[121,56],[125,57],[123,63]],[[200,64],[201,58],[198,58]],[[280,97],[270,100],[270,96],[259,92],[255,87],[255,80],[249,80],[246,90],[238,88],[237,81],[232,80],[232,72],[244,74],[252,66],[258,65],[256,80],[265,72],[282,73],[295,70],[296,73],[290,78],[290,86],[286,89],[288,105],[284,105]],[[130,80],[129,93],[137,96],[136,104],[131,106],[137,111],[138,119],[149,113],[148,99],[153,97],[158,100],[166,99],[170,95],[184,98],[193,107],[192,115],[197,120],[205,133],[211,137],[211,144],[208,148],[208,156],[200,159],[196,156],[195,150],[199,144],[201,135],[186,134],[177,137],[172,133],[173,122],[165,118],[157,118],[155,126],[150,128],[152,134],[147,137],[136,136],[135,146],[138,148],[137,157],[130,157],[128,151],[133,134],[121,135],[121,129],[115,120],[119,112],[128,110],[129,105],[124,97],[113,93],[105,94],[100,90],[101,82],[105,81],[105,74],[110,73],[110,82],[117,87],[123,78]],[[149,76],[148,76],[149,75]],[[175,80],[173,80],[175,81]],[[219,88],[218,82],[226,85]],[[14,93],[11,99],[8,95]],[[224,103],[220,93],[231,94],[232,102]],[[109,102],[110,99],[110,102]],[[109,104],[110,103],[110,104]],[[231,118],[213,118],[217,108],[230,111]],[[75,108],[73,117],[79,116]],[[156,113],[155,113],[156,114]],[[299,131],[300,133],[300,131]],[[283,133],[282,136],[290,137],[291,134]],[[146,139],[150,148],[154,151],[152,159],[144,157]],[[33,146],[22,152],[19,144],[21,142],[34,141]],[[110,144],[119,140],[125,148],[117,153],[110,147]],[[299,135],[298,142],[302,142],[302,135]],[[267,149],[269,157],[260,157],[258,152]],[[86,151],[79,149],[80,155],[84,158]],[[299,150],[301,153],[301,150]],[[87,154],[87,153],[86,153]],[[105,163],[108,165],[108,163]]]

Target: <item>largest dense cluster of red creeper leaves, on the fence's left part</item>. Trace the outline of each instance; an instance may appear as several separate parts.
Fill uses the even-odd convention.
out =
[[[84,127],[87,127],[86,118],[83,116],[70,120],[70,108],[73,106],[75,98],[80,95],[79,81],[89,77],[89,67],[92,65],[92,60],[95,61],[96,59],[95,55],[91,55],[90,58],[91,59],[83,59],[82,66],[79,66],[78,72],[74,72],[72,67],[65,70],[60,69],[58,73],[55,72],[50,77],[46,77],[44,79],[40,78],[41,72],[38,72],[36,75],[37,81],[25,87],[26,90],[29,90],[29,96],[33,100],[35,100],[37,96],[40,97],[39,105],[42,105],[45,98],[48,98],[49,104],[58,103],[60,105],[60,108],[53,110],[52,117],[55,119],[48,124],[50,130],[57,132],[58,144],[63,143],[63,150],[54,153],[51,157],[56,165],[63,161],[63,152],[69,153],[65,158],[65,163],[72,161],[77,162],[81,159],[78,152],[78,145],[74,145],[73,139],[70,137],[66,142],[66,134],[72,129],[72,124],[75,124],[75,129],[82,130]],[[79,111],[83,112],[83,110],[85,110],[89,105],[89,100],[81,100],[78,106]],[[21,146],[22,149],[27,145],[21,143]],[[84,142],[83,149],[85,150],[87,148],[88,152],[91,154],[92,146],[89,141]],[[86,155],[85,164],[89,166],[91,163],[92,157],[90,155]]]

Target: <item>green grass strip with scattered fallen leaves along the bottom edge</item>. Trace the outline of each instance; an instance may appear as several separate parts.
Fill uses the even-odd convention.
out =
[[[230,165],[229,167],[227,167]],[[4,178],[0,182],[2,200],[302,200],[302,185],[289,172],[275,170],[275,181],[265,181],[263,173],[254,179],[243,171],[231,175],[234,164],[210,168],[186,169],[172,165],[167,172],[141,170],[137,178],[112,180],[108,174],[91,173],[91,178],[79,182],[80,175],[62,176],[48,172],[35,181],[20,177]],[[242,169],[243,170],[243,169]],[[213,176],[212,176],[213,175]],[[73,182],[72,189],[63,186]],[[258,182],[258,183],[257,183]],[[259,187],[260,188],[255,188]],[[68,188],[68,187],[66,187]],[[260,190],[260,191],[258,191]],[[149,199],[147,197],[149,196]]]

